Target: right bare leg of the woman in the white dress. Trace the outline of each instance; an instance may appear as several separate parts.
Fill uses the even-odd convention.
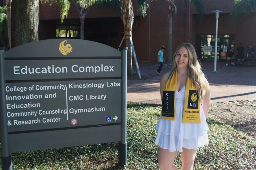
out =
[[[181,170],[193,170],[194,160],[196,158],[196,149],[182,148],[181,152]]]

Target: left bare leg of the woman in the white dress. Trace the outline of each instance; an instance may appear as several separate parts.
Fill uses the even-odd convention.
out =
[[[177,155],[177,151],[169,152],[168,149],[159,147],[158,151],[158,166],[161,170],[177,170],[178,168],[173,164]]]

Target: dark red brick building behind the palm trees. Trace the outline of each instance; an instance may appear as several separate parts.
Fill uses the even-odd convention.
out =
[[[256,46],[256,35],[253,32],[256,28],[256,14],[233,25],[230,21],[233,0],[203,0],[203,2],[204,19],[200,21],[197,11],[188,0],[175,1],[177,14],[173,17],[173,49],[182,42],[190,42],[195,46],[200,59],[204,62],[213,62],[214,52],[204,53],[203,47],[212,46],[212,51],[214,51],[216,18],[212,11],[215,10],[223,11],[220,13],[218,24],[218,61],[225,61],[226,51],[231,47],[236,49],[240,42],[243,43],[245,49],[248,44]],[[132,28],[132,39],[138,60],[156,61],[156,55],[161,46],[166,47],[164,58],[167,60],[168,3],[165,0],[150,2],[145,18],[138,14],[136,1],[133,1],[133,7],[135,22]],[[77,9],[75,4],[71,4],[68,18],[61,23],[59,7],[40,4],[39,40],[60,36],[79,38],[80,21]],[[109,10],[96,5],[90,7],[85,18],[84,39],[118,48],[124,32],[120,16],[119,8]]]

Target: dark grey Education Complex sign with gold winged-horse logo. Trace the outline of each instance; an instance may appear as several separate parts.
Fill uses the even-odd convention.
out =
[[[52,39],[2,51],[3,159],[119,141],[119,161],[126,164],[126,49]]]

